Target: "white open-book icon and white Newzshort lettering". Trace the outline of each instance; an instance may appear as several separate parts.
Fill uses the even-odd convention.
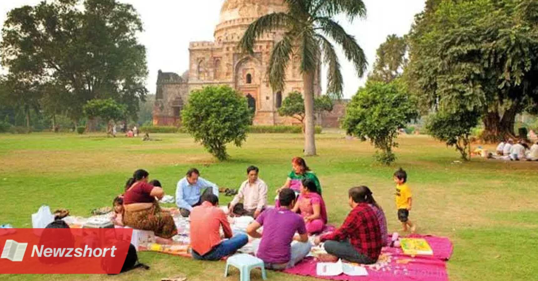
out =
[[[22,262],[28,243],[19,243],[15,240],[6,240],[2,258],[7,258],[12,262]],[[86,245],[84,248],[45,248],[34,245],[32,248],[32,257],[116,257],[116,246],[111,248],[90,248]]]

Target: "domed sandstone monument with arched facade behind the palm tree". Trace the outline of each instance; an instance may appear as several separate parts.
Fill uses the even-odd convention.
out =
[[[178,124],[189,93],[211,85],[229,85],[243,93],[256,112],[254,125],[295,124],[295,119],[280,117],[277,110],[289,92],[303,90],[299,57],[291,58],[282,92],[273,92],[266,73],[271,50],[282,32],[264,34],[254,44],[252,56],[243,54],[237,47],[252,21],[286,9],[282,0],[226,0],[221,9],[220,23],[215,28],[215,41],[190,42],[189,70],[183,76],[159,70],[153,124]],[[321,94],[320,69],[321,66],[318,66],[315,96]]]

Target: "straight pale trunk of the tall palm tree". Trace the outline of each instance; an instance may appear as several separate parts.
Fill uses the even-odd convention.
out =
[[[306,71],[303,74],[303,88],[305,89],[305,155],[316,155],[316,142],[314,138],[314,76],[315,71]]]

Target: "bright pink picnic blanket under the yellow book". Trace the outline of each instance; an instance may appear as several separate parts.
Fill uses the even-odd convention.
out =
[[[446,237],[431,235],[415,234],[408,237],[426,239],[434,255],[412,257],[404,255],[400,248],[386,247],[381,251],[376,264],[365,265],[368,276],[317,276],[317,261],[313,257],[305,258],[284,272],[330,280],[448,280],[445,263],[452,255],[452,242]]]

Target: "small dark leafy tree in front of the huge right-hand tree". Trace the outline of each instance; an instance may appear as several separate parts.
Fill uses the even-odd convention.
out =
[[[437,112],[428,117],[426,130],[435,139],[444,141],[447,146],[454,146],[461,153],[462,159],[469,161],[471,157],[472,128],[478,125],[479,112],[458,111],[456,113]]]

